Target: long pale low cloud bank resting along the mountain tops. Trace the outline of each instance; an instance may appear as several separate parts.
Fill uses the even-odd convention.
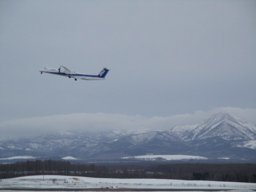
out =
[[[128,116],[123,114],[77,113],[23,118],[2,122],[1,136],[38,136],[54,131],[82,130],[102,132],[112,130],[169,130],[174,126],[195,124],[220,111],[228,112],[252,123],[256,123],[255,109],[232,107],[214,108],[209,111],[196,111],[193,114],[180,114],[168,117]]]

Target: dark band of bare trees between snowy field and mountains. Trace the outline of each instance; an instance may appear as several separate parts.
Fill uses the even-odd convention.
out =
[[[71,164],[60,160],[36,160],[0,164],[0,178],[28,175],[66,175],[98,178],[161,178],[256,183],[256,164]]]

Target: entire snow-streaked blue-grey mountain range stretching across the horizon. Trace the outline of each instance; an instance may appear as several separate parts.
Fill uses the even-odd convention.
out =
[[[220,112],[168,131],[54,132],[37,138],[0,140],[0,159],[11,156],[113,160],[146,154],[256,160],[256,125]]]

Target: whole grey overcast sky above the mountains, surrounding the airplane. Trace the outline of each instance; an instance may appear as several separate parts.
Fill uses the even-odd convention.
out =
[[[2,136],[256,123],[256,1],[0,0],[0,66]]]

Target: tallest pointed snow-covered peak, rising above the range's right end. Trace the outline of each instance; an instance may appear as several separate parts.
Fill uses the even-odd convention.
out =
[[[212,137],[224,140],[253,140],[256,139],[256,126],[239,117],[220,112],[195,125],[174,127],[169,133],[184,141]]]

